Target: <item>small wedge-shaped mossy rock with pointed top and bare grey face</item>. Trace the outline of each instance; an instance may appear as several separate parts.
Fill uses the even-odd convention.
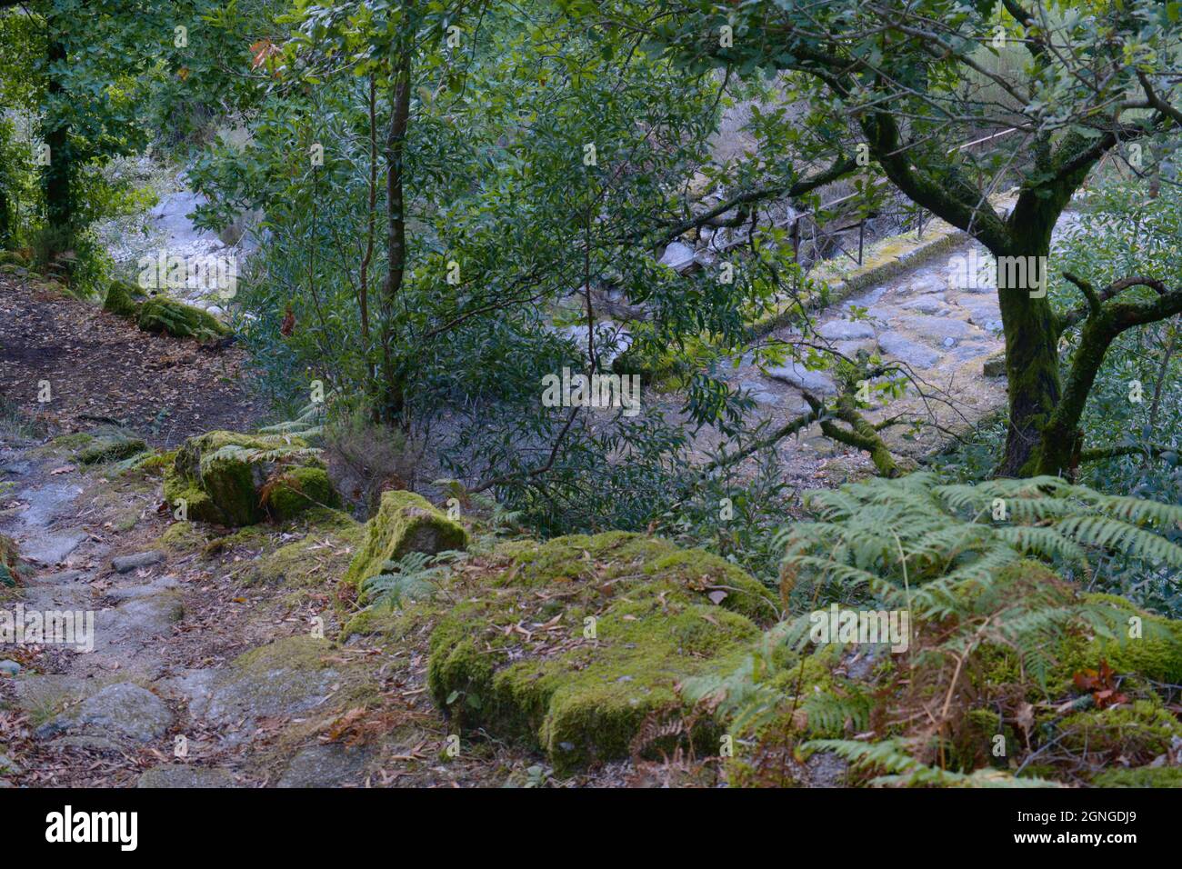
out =
[[[448,519],[422,495],[383,492],[377,514],[368,523],[365,545],[349,565],[344,582],[361,588],[382,572],[382,565],[408,552],[436,555],[467,547],[468,532],[463,526]]]

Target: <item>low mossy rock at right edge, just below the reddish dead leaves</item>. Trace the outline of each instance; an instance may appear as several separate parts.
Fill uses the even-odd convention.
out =
[[[1148,763],[1182,739],[1182,724],[1149,700],[1089,709],[1059,721],[1059,745],[1080,755]]]

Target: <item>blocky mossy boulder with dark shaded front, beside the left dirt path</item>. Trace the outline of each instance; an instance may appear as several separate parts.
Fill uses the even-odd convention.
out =
[[[248,435],[238,432],[207,432],[184,442],[164,475],[164,499],[174,506],[182,502],[186,518],[219,525],[253,525],[267,518],[267,502],[275,488],[285,510],[298,512],[311,500],[297,497],[293,486],[299,468],[314,468],[314,492],[322,499],[336,501],[324,463],[317,450],[298,437],[286,435]],[[288,482],[282,484],[281,480]],[[312,484],[306,481],[309,493]],[[324,486],[327,487],[325,491]],[[300,494],[307,494],[303,489]]]

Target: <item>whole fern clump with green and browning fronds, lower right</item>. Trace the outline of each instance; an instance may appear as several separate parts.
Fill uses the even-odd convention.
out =
[[[995,499],[1005,519],[993,518]],[[805,504],[816,518],[779,536],[781,592],[792,614],[729,674],[686,686],[691,699],[713,701],[732,733],[756,745],[788,740],[805,752],[833,752],[872,772],[873,785],[1026,786],[1040,782],[974,769],[988,752],[973,746],[999,721],[1021,722],[1027,696],[1061,698],[1074,690],[1074,668],[1105,656],[1119,657],[1129,675],[1162,675],[1158,659],[1175,644],[1173,624],[1147,620],[1145,638],[1124,638],[1125,601],[1082,596],[1046,565],[1086,581],[1104,551],[1174,564],[1182,551],[1161,531],[1182,518],[1182,507],[1104,495],[1059,478],[972,486],[942,485],[930,473],[813,492]],[[908,648],[888,655],[885,647],[833,638],[813,648],[812,615],[831,601],[907,612]],[[1135,648],[1125,653],[1128,643]],[[872,666],[851,679],[856,651]],[[1144,702],[1157,701],[1150,692]],[[978,712],[994,722],[983,735]],[[1103,718],[1118,737],[1122,715]]]

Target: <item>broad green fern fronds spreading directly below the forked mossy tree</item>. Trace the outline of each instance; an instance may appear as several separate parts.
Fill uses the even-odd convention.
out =
[[[781,532],[785,576],[800,588],[865,588],[924,615],[947,615],[947,595],[987,582],[1025,556],[1085,577],[1119,551],[1148,570],[1182,568],[1165,537],[1182,507],[1105,495],[1060,478],[942,485],[930,472],[813,492],[818,521]]]

